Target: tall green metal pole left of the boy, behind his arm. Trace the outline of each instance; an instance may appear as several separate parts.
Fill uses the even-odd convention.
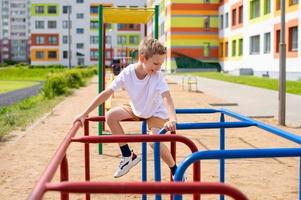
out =
[[[98,93],[103,91],[103,7],[98,7]],[[103,115],[103,105],[98,107],[98,115]],[[102,135],[103,124],[98,122],[98,135]],[[98,145],[98,153],[102,154],[102,144]]]

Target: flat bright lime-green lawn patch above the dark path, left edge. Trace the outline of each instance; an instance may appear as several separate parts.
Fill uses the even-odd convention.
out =
[[[0,94],[37,85],[36,81],[3,81],[0,80]]]

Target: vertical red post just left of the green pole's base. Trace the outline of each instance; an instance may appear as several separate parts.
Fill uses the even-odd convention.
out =
[[[84,122],[84,135],[89,136],[89,121]],[[84,144],[84,156],[85,156],[85,180],[90,181],[90,146],[89,143]],[[86,200],[90,200],[90,193],[86,193]]]

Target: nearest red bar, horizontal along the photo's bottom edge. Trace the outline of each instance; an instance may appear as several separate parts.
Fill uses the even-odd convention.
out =
[[[224,194],[237,200],[248,200],[238,189],[223,183],[200,182],[67,182],[48,183],[47,190],[70,193],[160,193],[160,194]]]

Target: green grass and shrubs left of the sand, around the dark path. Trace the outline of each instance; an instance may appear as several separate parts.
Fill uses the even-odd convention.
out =
[[[85,71],[85,72],[84,72]],[[61,72],[68,72],[62,75]],[[59,103],[66,95],[70,95],[75,88],[85,85],[94,74],[95,69],[69,69],[62,68],[26,68],[26,67],[9,67],[0,68],[0,88],[14,87],[16,89],[18,81],[26,81],[26,83],[37,83],[40,80],[46,80],[46,78],[52,73],[62,76],[62,79],[67,79],[68,91],[61,96],[53,96],[47,98],[45,96],[45,90],[39,95],[26,98],[16,104],[0,107],[0,141],[3,136],[15,129],[23,130],[28,124],[34,122],[37,118],[44,113],[51,111],[51,109]],[[68,74],[71,74],[67,76]],[[66,75],[66,77],[64,76]],[[53,77],[53,76],[52,76]],[[49,80],[49,77],[47,78]],[[14,82],[15,84],[11,84]],[[80,82],[81,84],[77,83]],[[6,83],[6,84],[4,84]],[[14,86],[12,86],[14,85]],[[22,82],[21,85],[24,85]],[[64,86],[65,87],[65,86]],[[11,89],[9,88],[9,89]]]

